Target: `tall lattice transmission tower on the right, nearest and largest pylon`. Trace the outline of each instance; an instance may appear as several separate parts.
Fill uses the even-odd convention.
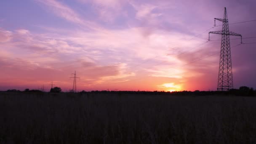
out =
[[[214,26],[216,26],[216,24],[215,24],[216,20],[222,21],[222,23],[223,23],[222,31],[209,32],[209,40],[210,40],[210,33],[222,35],[221,36],[221,54],[220,54],[220,60],[219,60],[219,77],[218,77],[217,90],[218,91],[228,91],[230,89],[233,89],[232,61],[231,61],[229,35],[240,36],[241,43],[242,43],[242,35],[229,31],[229,21],[227,19],[226,7],[225,7],[223,19],[214,18]]]

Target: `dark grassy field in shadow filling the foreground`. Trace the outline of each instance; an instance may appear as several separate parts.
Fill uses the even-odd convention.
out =
[[[0,93],[1,144],[255,144],[256,98]]]

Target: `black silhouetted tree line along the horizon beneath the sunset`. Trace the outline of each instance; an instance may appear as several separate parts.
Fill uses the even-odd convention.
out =
[[[19,91],[16,89],[8,90],[7,92],[33,92],[33,93],[43,93],[40,90],[29,90],[28,88],[24,91]],[[61,88],[54,87],[50,90],[51,93],[60,93]],[[229,91],[173,91],[173,92],[165,92],[165,91],[81,91],[80,94],[84,93],[115,93],[118,95],[121,94],[149,94],[149,95],[178,95],[178,96],[209,96],[209,95],[235,95],[235,96],[256,96],[256,90],[253,88],[249,88],[247,86],[241,86],[239,89],[232,89]]]

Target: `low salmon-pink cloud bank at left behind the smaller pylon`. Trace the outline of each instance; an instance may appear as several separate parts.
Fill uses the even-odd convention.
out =
[[[61,61],[50,64],[43,64],[38,59],[30,61],[21,58],[3,58],[0,57],[0,67],[5,69],[0,72],[1,75],[5,75],[5,80],[10,81],[10,85],[21,86],[29,85],[42,85],[48,83],[51,80],[61,82],[59,86],[61,88],[67,88],[69,85],[69,76],[72,73],[72,69],[77,70],[77,76],[81,77],[81,81],[77,81],[77,85],[81,86],[95,86],[96,84],[104,83],[106,77],[115,77],[122,75],[120,73],[120,65],[97,65],[95,63],[83,61],[81,65],[72,64],[70,61],[68,64],[63,64]],[[17,73],[19,71],[19,73]],[[123,76],[125,78],[125,76]],[[15,81],[19,79],[19,81]],[[32,81],[28,81],[32,79]],[[3,82],[3,78],[0,78]],[[15,82],[15,83],[14,83]],[[0,86],[4,86],[6,83],[0,83]]]

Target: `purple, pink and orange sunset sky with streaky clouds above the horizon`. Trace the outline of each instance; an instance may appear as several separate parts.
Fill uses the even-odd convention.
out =
[[[234,88],[256,88],[255,0],[1,0],[0,91],[215,91],[227,7]],[[240,21],[250,21],[239,24]],[[247,43],[247,44],[246,44]],[[251,44],[249,44],[251,43]],[[232,48],[233,47],[233,48]]]

